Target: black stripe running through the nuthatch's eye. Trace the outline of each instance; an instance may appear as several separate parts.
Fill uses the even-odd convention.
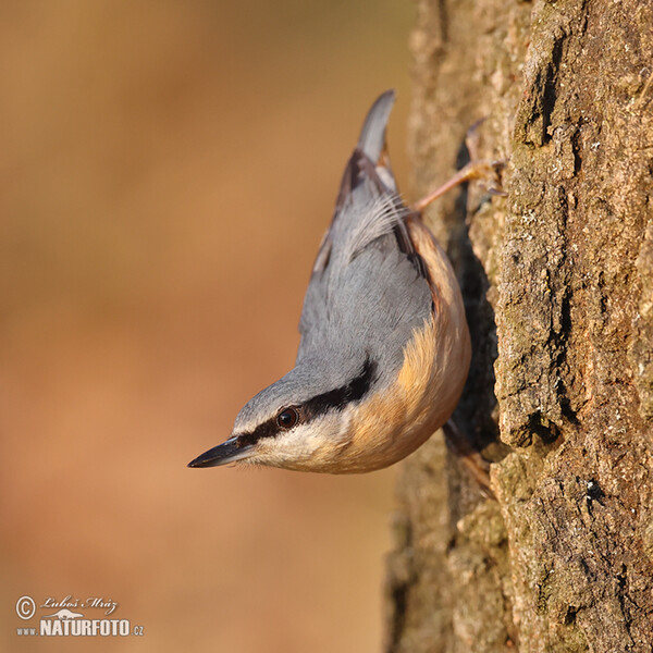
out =
[[[357,377],[354,377],[348,383],[320,395],[316,395],[307,402],[304,402],[300,406],[283,408],[273,418],[259,424],[254,431],[237,435],[236,446],[256,444],[261,438],[273,438],[279,433],[292,429],[297,426],[297,423],[315,419],[332,408],[342,409],[352,402],[359,402],[368,393],[372,383],[375,381],[377,368],[377,362],[367,358],[360,369],[360,373]],[[280,424],[280,417],[288,410],[295,412],[297,417],[296,421],[292,426]]]

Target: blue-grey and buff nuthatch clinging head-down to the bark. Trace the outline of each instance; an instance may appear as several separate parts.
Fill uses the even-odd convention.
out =
[[[458,403],[470,362],[446,255],[401,199],[385,153],[394,93],[370,109],[316,259],[295,367],[189,467],[348,473],[412,453]]]

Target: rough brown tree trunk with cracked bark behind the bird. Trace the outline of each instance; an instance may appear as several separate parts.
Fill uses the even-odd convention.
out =
[[[419,0],[416,195],[508,159],[427,220],[475,357],[455,419],[404,467],[392,653],[653,650],[653,3]],[[445,480],[446,479],[446,480]]]

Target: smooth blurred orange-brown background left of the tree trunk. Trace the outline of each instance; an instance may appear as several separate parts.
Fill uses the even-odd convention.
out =
[[[393,470],[185,465],[292,367],[340,176],[391,86],[407,190],[412,11],[3,3],[2,651],[380,649]],[[145,637],[20,638],[23,594],[116,601]]]

